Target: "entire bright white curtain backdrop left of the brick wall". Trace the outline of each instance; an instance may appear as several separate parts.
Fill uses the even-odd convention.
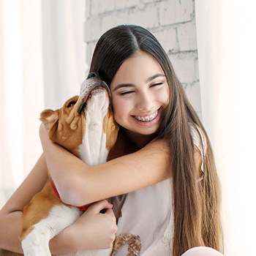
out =
[[[0,207],[42,154],[39,114],[79,94],[85,15],[80,0],[0,0]]]

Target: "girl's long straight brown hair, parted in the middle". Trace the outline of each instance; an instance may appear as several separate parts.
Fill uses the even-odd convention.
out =
[[[138,50],[150,53],[157,59],[170,88],[170,103],[157,138],[170,141],[172,154],[173,256],[180,256],[194,246],[210,246],[222,252],[220,187],[211,143],[157,39],[140,26],[122,25],[110,29],[97,42],[90,72],[99,72],[110,85],[121,64]],[[198,181],[195,170],[191,125],[199,127],[206,137],[207,151],[201,181]]]

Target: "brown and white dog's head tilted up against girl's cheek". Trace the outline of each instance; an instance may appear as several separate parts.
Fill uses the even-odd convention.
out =
[[[58,110],[44,110],[40,120],[48,128],[50,140],[81,159],[87,159],[84,154],[102,146],[109,152],[118,135],[110,90],[96,73],[83,81],[79,97],[68,99]]]

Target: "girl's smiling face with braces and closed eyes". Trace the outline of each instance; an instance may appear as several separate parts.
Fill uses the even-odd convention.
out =
[[[134,135],[152,135],[170,100],[165,73],[149,53],[121,64],[110,84],[116,122]]]

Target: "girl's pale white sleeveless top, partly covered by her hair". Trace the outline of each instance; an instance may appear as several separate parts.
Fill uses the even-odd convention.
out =
[[[199,128],[192,127],[191,134],[193,143],[199,148],[203,158],[206,152],[206,138]],[[203,163],[201,170],[203,172]],[[173,237],[172,191],[173,181],[170,178],[150,187],[128,193],[121,208],[116,236],[123,233],[140,236],[142,245],[140,255],[171,255]],[[127,244],[124,244],[113,255],[127,255]]]

